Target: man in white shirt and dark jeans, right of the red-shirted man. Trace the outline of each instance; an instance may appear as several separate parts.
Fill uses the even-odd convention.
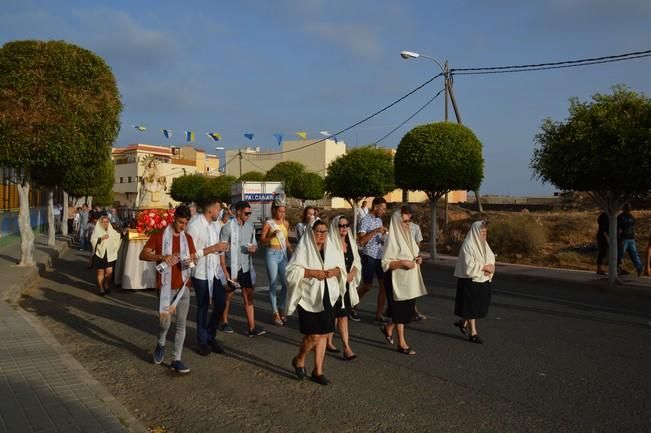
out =
[[[217,325],[226,306],[226,278],[221,268],[219,253],[228,249],[226,242],[219,242],[221,222],[217,221],[221,204],[215,198],[204,199],[199,206],[203,210],[188,223],[187,232],[197,249],[197,265],[192,270],[192,287],[197,299],[198,353],[208,356],[211,352],[224,353],[217,342]],[[208,317],[212,300],[212,313]]]

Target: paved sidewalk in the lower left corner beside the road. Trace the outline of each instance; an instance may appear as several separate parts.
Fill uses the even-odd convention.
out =
[[[17,267],[20,244],[0,249],[0,433],[138,432],[146,429],[16,301],[66,241],[36,236],[38,268]]]

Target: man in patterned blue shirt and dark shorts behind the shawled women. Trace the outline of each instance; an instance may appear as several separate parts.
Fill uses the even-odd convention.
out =
[[[382,317],[386,296],[384,293],[384,272],[382,271],[382,254],[384,253],[384,235],[387,229],[382,223],[382,216],[386,213],[387,201],[383,197],[375,197],[372,203],[372,209],[368,215],[362,218],[357,234],[357,241],[362,246],[362,285],[358,289],[359,299],[373,285],[373,279],[377,278],[380,286],[377,296],[377,307],[375,310],[375,321],[386,323],[387,320]],[[356,308],[350,312],[350,318],[359,322],[359,314]]]

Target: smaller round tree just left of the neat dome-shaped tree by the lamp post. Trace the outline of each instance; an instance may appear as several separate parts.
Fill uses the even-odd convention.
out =
[[[360,200],[395,188],[391,153],[373,146],[353,149],[328,165],[324,183],[331,197],[345,199],[357,215]],[[357,235],[357,218],[353,218],[353,233]]]

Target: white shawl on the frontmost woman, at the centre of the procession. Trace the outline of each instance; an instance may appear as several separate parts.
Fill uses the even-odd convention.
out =
[[[304,310],[312,313],[323,311],[323,294],[325,293],[325,283],[328,282],[328,294],[330,295],[330,305],[335,305],[341,295],[341,285],[346,285],[346,263],[343,254],[337,252],[336,248],[330,247],[330,240],[326,239],[323,246],[325,249],[324,257],[321,254],[314,240],[312,230],[306,230],[305,234],[294,250],[292,258],[287,265],[287,315],[292,315],[296,307],[300,305]],[[324,281],[316,278],[305,278],[306,269],[332,269],[339,268],[339,277],[331,277]]]

